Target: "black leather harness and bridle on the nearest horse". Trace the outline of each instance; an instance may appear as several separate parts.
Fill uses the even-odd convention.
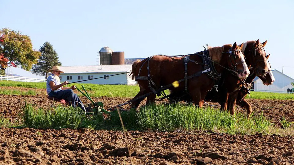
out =
[[[215,65],[214,64],[217,64],[220,67],[225,68],[226,70],[228,70],[229,72],[231,72],[233,75],[237,75],[238,76],[237,65],[239,65],[241,63],[245,63],[245,60],[241,60],[240,63],[236,63],[236,60],[235,60],[236,59],[236,55],[235,55],[235,52],[236,51],[240,51],[241,52],[240,49],[237,49],[235,51],[232,51],[232,48],[230,48],[228,50],[228,52],[226,52],[226,53],[230,53],[229,54],[229,58],[230,58],[230,62],[232,64],[231,67],[232,67],[233,70],[228,69],[228,68],[225,68],[224,66],[222,66],[222,65],[216,63],[215,61],[211,60],[211,58],[209,56],[209,51],[208,50],[204,50],[204,51],[201,51],[201,52],[198,52],[198,53],[194,53],[194,54],[174,55],[174,56],[166,56],[166,57],[183,57],[183,62],[184,62],[184,67],[185,67],[184,78],[181,79],[181,80],[179,80],[178,83],[180,83],[182,81],[185,81],[185,91],[188,93],[188,87],[187,86],[188,86],[188,79],[190,79],[190,78],[197,77],[197,76],[200,76],[203,73],[206,73],[209,78],[211,78],[211,79],[213,79],[215,81],[218,81],[220,79],[221,74],[216,71],[216,68],[215,68]],[[203,63],[198,62],[198,61],[191,60],[190,59],[190,56],[191,55],[198,55],[198,56],[202,57]],[[135,80],[136,81],[137,80],[148,80],[148,87],[150,88],[150,90],[154,94],[157,94],[158,96],[160,96],[161,90],[159,90],[159,89],[161,89],[161,88],[158,88],[155,85],[155,83],[153,82],[153,80],[152,80],[152,78],[150,76],[149,62],[150,62],[151,58],[153,58],[153,57],[154,56],[148,57],[148,59],[144,61],[144,63],[139,68],[138,76],[135,76]],[[202,70],[200,72],[197,72],[197,73],[195,73],[193,75],[188,76],[188,62],[189,61],[192,62],[192,63],[195,63],[197,65],[203,65],[204,66],[204,70]],[[141,70],[142,70],[143,66],[146,64],[146,62],[147,62],[147,76],[140,76]],[[215,87],[216,90],[217,90],[217,86],[218,85],[214,85],[213,87]]]

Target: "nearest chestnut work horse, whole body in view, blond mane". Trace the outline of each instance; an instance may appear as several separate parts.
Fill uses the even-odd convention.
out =
[[[187,92],[195,105],[203,106],[204,98],[216,85],[224,70],[240,79],[249,75],[244,55],[243,44],[227,44],[212,47],[198,53],[177,56],[154,55],[132,65],[132,79],[135,79],[140,91],[133,98],[132,108],[137,108],[144,98],[135,99],[148,92],[146,104],[154,102],[160,87],[178,83],[168,87],[174,92]]]

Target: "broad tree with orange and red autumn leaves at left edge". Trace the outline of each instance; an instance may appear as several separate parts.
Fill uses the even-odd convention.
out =
[[[9,28],[0,30],[0,69],[5,71],[7,67],[21,66],[24,70],[31,70],[37,63],[40,52],[33,50],[29,36],[13,31]]]

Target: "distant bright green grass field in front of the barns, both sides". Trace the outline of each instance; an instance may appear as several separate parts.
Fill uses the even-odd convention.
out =
[[[138,91],[138,85],[97,85],[97,84],[87,84],[87,83],[77,83],[76,87],[81,88],[82,85],[89,92],[91,97],[134,97]],[[17,92],[16,90],[1,90],[1,86],[9,87],[25,87],[25,88],[46,88],[46,83],[31,83],[31,82],[16,82],[16,81],[0,81],[0,94],[9,95],[9,93],[14,93],[15,95],[34,95],[34,89],[30,89],[30,92]],[[70,85],[68,85],[69,87]],[[79,94],[81,96],[81,94]],[[277,100],[294,100],[294,94],[288,93],[270,93],[270,92],[250,92],[250,96],[247,95],[246,98],[252,99],[277,99]]]

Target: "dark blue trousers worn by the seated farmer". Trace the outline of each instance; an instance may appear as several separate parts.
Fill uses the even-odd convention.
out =
[[[84,107],[82,101],[80,100],[78,95],[74,93],[72,89],[51,91],[48,95],[50,97],[55,97],[60,100],[64,99],[66,102],[69,102],[69,104],[73,107],[75,107],[76,105],[80,107],[81,109],[83,109]],[[73,101],[73,102],[70,102],[70,101]],[[76,101],[80,102],[81,104]]]

